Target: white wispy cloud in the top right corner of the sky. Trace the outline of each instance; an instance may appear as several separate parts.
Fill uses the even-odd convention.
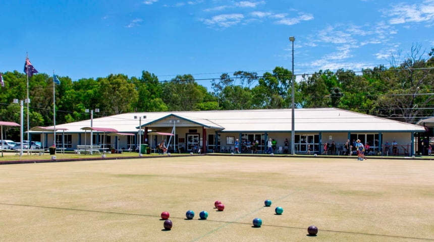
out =
[[[386,17],[390,17],[390,24],[432,23],[434,22],[434,0],[425,0],[422,3],[412,5],[398,3],[382,12]]]

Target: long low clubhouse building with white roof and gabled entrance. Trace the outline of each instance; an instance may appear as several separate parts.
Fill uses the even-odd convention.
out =
[[[92,144],[106,149],[136,150],[140,143],[155,152],[164,139],[169,152],[194,148],[202,153],[234,152],[238,139],[240,150],[249,153],[257,140],[261,153],[272,138],[277,141],[274,153],[291,153],[291,119],[291,109],[140,112],[56,125],[56,133],[37,129],[30,133],[40,135],[45,147],[52,145],[55,134],[56,146],[71,151],[77,145],[89,145],[92,134]],[[415,134],[425,132],[422,126],[339,108],[297,108],[294,119],[296,154],[307,153],[308,147],[311,153],[321,154],[326,142],[334,142],[334,154],[342,154],[347,140],[360,139],[369,143],[374,154],[392,154],[385,144],[395,141],[397,155],[410,155],[414,154]]]

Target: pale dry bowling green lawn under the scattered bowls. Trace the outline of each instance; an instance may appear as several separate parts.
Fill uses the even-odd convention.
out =
[[[433,171],[425,160],[241,156],[0,165],[0,241],[434,241]]]

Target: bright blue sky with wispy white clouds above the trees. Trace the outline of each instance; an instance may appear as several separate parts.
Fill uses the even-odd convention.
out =
[[[434,0],[0,0],[0,72],[160,81],[236,71],[361,71],[434,47]],[[298,79],[298,78],[297,78]]]

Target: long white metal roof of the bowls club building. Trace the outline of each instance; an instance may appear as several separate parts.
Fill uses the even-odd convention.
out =
[[[137,132],[141,125],[170,127],[170,120],[180,119],[184,126],[204,126],[222,132],[290,132],[291,109],[214,110],[214,111],[171,111],[123,113],[93,118],[93,127],[112,128],[119,132]],[[177,126],[179,126],[177,124]],[[90,119],[69,124],[56,125],[67,128],[68,133],[82,133],[90,127]],[[150,128],[151,129],[151,128]],[[156,129],[158,131],[158,129]],[[375,117],[338,108],[295,109],[296,132],[423,132],[417,125]]]

